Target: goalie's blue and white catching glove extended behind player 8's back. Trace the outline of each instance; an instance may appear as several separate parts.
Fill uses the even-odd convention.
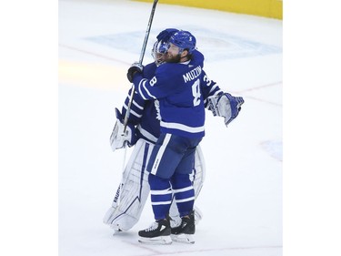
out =
[[[233,97],[229,93],[208,97],[208,109],[216,117],[224,117],[227,125],[235,119],[244,103],[243,97]]]

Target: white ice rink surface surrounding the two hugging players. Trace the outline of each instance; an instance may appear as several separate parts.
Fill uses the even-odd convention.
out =
[[[162,2],[162,1],[159,1]],[[109,136],[130,87],[151,4],[59,1],[59,255],[282,255],[282,21],[158,4],[144,63],[166,27],[190,30],[206,56],[205,70],[246,103],[231,125],[206,112],[206,181],[196,205],[204,219],[196,244],[151,246],[141,220],[112,236],[102,223],[123,165]],[[128,152],[129,154],[129,152]]]

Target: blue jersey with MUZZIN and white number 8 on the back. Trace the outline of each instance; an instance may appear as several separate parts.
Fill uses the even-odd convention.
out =
[[[134,77],[137,93],[145,100],[154,99],[162,133],[186,138],[205,136],[205,106],[200,90],[203,62],[165,63],[155,70],[155,77]]]

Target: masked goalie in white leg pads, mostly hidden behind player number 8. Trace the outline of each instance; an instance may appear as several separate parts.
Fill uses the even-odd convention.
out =
[[[168,28],[156,36],[157,41],[152,50],[155,62],[145,66],[143,72],[144,77],[154,77],[156,67],[164,62],[167,40],[176,31],[178,30]],[[196,51],[193,56],[200,61],[204,60],[204,56],[198,51]],[[216,83],[211,82],[208,79],[206,79],[206,81],[207,96],[208,93],[213,96],[221,92],[219,87],[215,87]],[[210,85],[208,83],[210,83]],[[137,141],[131,158],[125,167],[123,179],[113,201],[113,205],[106,211],[103,219],[104,223],[110,225],[115,231],[130,230],[140,218],[145,206],[145,200],[147,199],[150,190],[147,182],[148,173],[145,171],[145,165],[157,138],[160,136],[160,121],[156,118],[157,112],[155,102],[153,100],[145,101],[138,94],[135,94],[130,110],[128,126],[126,129],[127,133],[125,136],[122,136],[123,117],[125,116],[128,101],[129,97],[126,97],[125,105],[122,108],[122,114],[116,109],[117,121],[110,137],[111,146],[114,151],[117,148],[124,148],[125,144],[133,146],[135,141]],[[200,148],[197,148],[194,169],[191,174],[196,197],[203,186],[204,178],[205,163]],[[117,201],[118,199],[119,201]],[[175,202],[172,203],[170,217],[172,227],[180,225],[181,219]],[[200,219],[200,210],[196,208],[196,221]]]

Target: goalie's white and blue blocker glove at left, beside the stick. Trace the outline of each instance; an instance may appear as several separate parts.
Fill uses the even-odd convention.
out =
[[[135,127],[131,124],[127,124],[126,128],[123,125],[123,118],[121,112],[115,108],[116,122],[113,132],[110,136],[110,145],[113,151],[118,148],[125,148],[133,146],[136,143]],[[124,132],[125,128],[125,132]]]

